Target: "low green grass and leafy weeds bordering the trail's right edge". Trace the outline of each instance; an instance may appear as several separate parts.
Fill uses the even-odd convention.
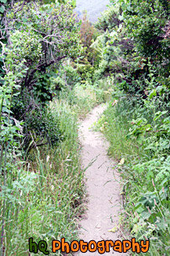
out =
[[[135,98],[113,99],[99,126],[110,141],[108,154],[118,160],[125,206],[125,229],[130,230],[131,236],[138,240],[150,239],[147,255],[168,255],[169,150],[161,146],[162,141],[168,139],[168,134],[157,136],[155,132],[146,132],[141,141],[129,135],[137,117],[151,121],[153,128],[158,129],[159,121],[154,121],[157,112],[155,102],[154,107],[146,109]],[[138,131],[141,131],[141,126]]]

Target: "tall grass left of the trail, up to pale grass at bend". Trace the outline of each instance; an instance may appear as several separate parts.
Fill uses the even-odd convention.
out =
[[[5,200],[2,255],[28,255],[30,237],[35,242],[45,240],[49,250],[52,239],[78,239],[85,195],[78,119],[97,104],[97,97],[90,87],[61,91],[47,110],[59,122],[57,146],[34,147],[27,156],[17,148],[8,153],[5,182],[4,174],[0,177],[1,216]],[[34,136],[32,140],[36,145]]]

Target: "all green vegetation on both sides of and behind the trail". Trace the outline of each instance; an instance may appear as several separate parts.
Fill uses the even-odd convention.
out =
[[[125,229],[170,252],[170,2],[110,1],[92,25],[75,1],[0,0],[0,251],[78,239],[78,122],[99,120],[118,161]]]

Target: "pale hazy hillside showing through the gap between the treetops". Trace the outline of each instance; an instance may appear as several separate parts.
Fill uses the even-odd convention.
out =
[[[87,11],[89,20],[94,23],[109,4],[110,0],[76,0],[75,11],[79,18],[82,18],[83,12]]]

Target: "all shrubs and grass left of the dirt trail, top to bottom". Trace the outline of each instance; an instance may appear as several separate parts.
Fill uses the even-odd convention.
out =
[[[1,2],[0,251],[27,255],[29,237],[78,239],[78,120],[104,94],[81,85],[80,23],[69,2]]]

